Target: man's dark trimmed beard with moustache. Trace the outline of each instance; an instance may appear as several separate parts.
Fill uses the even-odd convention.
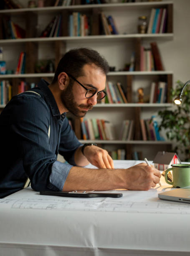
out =
[[[90,104],[80,104],[74,100],[72,85],[68,84],[66,89],[61,93],[61,102],[63,105],[76,117],[84,117],[88,110],[80,110],[79,108],[85,108],[91,110],[93,108]]]

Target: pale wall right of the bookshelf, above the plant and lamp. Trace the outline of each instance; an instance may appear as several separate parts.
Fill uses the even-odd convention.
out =
[[[173,0],[174,39],[159,44],[165,69],[174,72],[174,82],[190,80],[190,0]]]

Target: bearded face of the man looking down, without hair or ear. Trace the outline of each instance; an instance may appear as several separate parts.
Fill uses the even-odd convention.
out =
[[[105,89],[106,75],[102,74],[101,70],[95,65],[86,64],[83,68],[84,76],[76,79],[83,84],[87,89],[95,88],[98,91]],[[84,117],[88,110],[91,110],[97,103],[97,93],[91,97],[85,97],[86,90],[74,81],[69,79],[69,84],[61,93],[61,101],[63,105],[75,116]]]

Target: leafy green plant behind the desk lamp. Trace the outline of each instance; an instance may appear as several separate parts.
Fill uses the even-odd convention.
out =
[[[184,84],[177,81],[175,89],[171,90],[172,98],[180,95]],[[161,110],[158,115],[161,118],[160,130],[166,131],[169,140],[175,141],[175,152],[182,153],[182,161],[190,161],[190,94],[183,92],[183,100],[180,105],[175,105],[173,110]]]

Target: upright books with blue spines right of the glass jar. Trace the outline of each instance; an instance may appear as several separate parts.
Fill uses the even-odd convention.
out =
[[[149,18],[147,33],[165,33],[166,32],[167,9],[152,8]]]

